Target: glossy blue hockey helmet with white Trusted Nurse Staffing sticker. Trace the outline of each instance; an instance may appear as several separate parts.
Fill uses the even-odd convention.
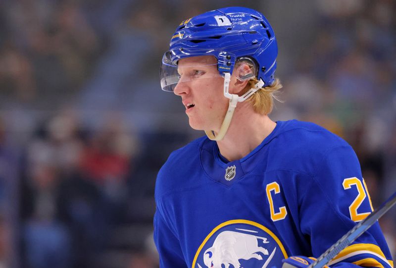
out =
[[[182,21],[170,41],[161,65],[161,87],[173,91],[180,76],[169,71],[179,59],[213,55],[220,75],[232,74],[236,61],[251,59],[254,76],[269,86],[274,82],[278,47],[268,20],[247,7],[225,7]]]

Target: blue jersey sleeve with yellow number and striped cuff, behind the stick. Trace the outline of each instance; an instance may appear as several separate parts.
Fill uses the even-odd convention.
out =
[[[313,257],[319,257],[357,222],[372,212],[359,161],[352,148],[329,149],[318,161],[311,182],[298,188],[300,228],[309,237]],[[379,223],[376,222],[331,262],[332,267],[393,267]]]

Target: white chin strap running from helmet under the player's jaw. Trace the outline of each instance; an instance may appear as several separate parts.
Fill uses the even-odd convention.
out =
[[[264,82],[260,79],[255,85],[254,88],[251,88],[242,95],[241,97],[237,94],[230,94],[228,92],[228,88],[230,86],[231,74],[224,73],[224,97],[230,99],[228,104],[228,110],[226,116],[224,117],[223,123],[221,124],[220,131],[215,136],[212,130],[205,130],[206,136],[212,141],[221,141],[227,133],[228,127],[230,126],[232,116],[234,115],[235,107],[237,107],[238,103],[242,103],[246,101],[251,95],[253,95],[257,90],[262,88]]]

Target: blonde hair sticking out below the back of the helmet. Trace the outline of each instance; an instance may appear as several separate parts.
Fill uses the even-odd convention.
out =
[[[256,83],[258,83],[256,77],[250,79],[243,90],[243,94],[245,94],[245,92],[250,88],[254,87]],[[281,81],[278,78],[275,78],[275,81],[271,86],[262,87],[250,96],[247,101],[253,105],[255,112],[260,114],[269,114],[274,107],[274,100],[281,102],[277,95],[279,95],[279,90],[282,87]]]

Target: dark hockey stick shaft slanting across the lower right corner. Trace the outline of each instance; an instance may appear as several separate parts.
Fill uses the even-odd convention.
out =
[[[315,262],[307,268],[322,268],[336,257],[350,243],[355,241],[362,233],[371,227],[382,215],[384,215],[393,205],[396,204],[396,192],[388,198],[377,210],[368,215],[364,220],[360,221],[355,227],[350,229],[343,237],[340,238],[333,246],[326,250]]]

